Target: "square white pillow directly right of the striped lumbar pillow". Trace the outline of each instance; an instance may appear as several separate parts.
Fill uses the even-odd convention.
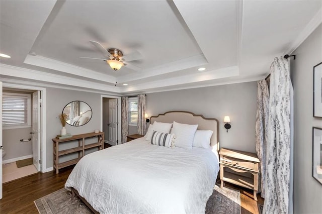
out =
[[[176,147],[181,147],[184,149],[192,149],[193,138],[198,125],[188,125],[173,122],[173,127],[171,134],[176,134],[175,139]]]

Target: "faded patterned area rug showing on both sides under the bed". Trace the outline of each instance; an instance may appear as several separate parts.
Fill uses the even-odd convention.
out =
[[[62,188],[34,201],[39,213],[93,213],[77,196]],[[206,205],[207,214],[240,214],[239,191],[215,186]]]

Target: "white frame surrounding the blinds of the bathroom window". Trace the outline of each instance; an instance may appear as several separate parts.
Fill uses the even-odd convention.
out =
[[[5,96],[9,96],[9,97],[24,97],[24,98],[27,97],[27,124],[24,124],[24,125],[18,125],[18,124],[5,125],[5,124],[1,124],[2,127],[3,127],[3,130],[30,128],[31,127],[31,94],[29,94],[29,93],[3,92],[3,99],[4,99]],[[4,113],[2,113],[2,114],[4,114]]]

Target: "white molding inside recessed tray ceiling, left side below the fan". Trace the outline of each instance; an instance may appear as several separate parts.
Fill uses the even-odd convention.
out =
[[[90,69],[78,67],[61,61],[53,60],[43,56],[33,56],[28,54],[24,63],[29,65],[35,65],[38,67],[48,68],[52,70],[57,70],[64,73],[73,74],[76,76],[83,76],[90,79],[97,79],[100,81],[113,83],[113,84],[117,81],[114,76],[103,74]]]

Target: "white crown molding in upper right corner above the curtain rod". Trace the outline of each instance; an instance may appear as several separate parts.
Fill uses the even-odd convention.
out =
[[[304,40],[322,23],[322,9],[320,9],[314,17],[307,23],[305,28],[296,37],[291,46],[284,54],[292,54],[298,46],[300,46]]]

